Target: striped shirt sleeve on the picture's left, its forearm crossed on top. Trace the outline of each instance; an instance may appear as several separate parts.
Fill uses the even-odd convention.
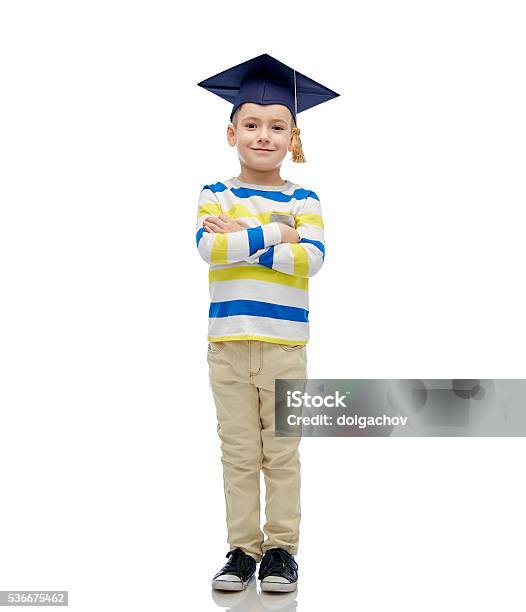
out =
[[[199,194],[196,236],[199,255],[209,264],[229,264],[244,261],[258,251],[281,242],[281,230],[276,222],[250,227],[238,232],[207,232],[206,217],[219,216],[224,211],[215,193],[205,186]]]

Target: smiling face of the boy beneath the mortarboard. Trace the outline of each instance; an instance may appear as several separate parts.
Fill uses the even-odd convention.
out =
[[[250,168],[279,168],[292,150],[292,115],[282,104],[245,102],[237,111],[236,125],[228,126],[227,138]]]

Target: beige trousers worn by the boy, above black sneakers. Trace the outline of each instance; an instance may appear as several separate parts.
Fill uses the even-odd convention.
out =
[[[274,547],[294,555],[301,518],[301,438],[274,436],[274,380],[307,378],[307,348],[259,340],[210,342],[208,365],[230,548],[239,546],[256,561]],[[260,470],[265,479],[265,541]]]

